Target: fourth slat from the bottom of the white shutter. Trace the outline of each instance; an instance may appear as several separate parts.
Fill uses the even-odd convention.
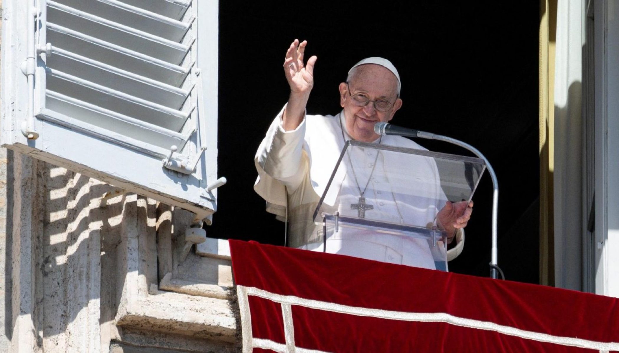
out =
[[[88,56],[96,61],[169,85],[179,87],[189,73],[189,67],[170,64],[54,23],[48,23],[47,29],[47,40],[52,46],[58,46],[71,53]]]

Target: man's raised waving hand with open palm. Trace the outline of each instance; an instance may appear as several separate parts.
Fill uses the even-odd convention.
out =
[[[299,40],[295,39],[286,51],[284,73],[290,85],[291,94],[309,95],[309,91],[314,87],[314,64],[317,57],[314,55],[309,58],[306,66],[303,64],[303,54],[305,54],[307,44],[306,40],[299,43]]]

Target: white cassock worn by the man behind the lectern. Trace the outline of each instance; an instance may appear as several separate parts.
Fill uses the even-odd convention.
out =
[[[350,136],[345,124],[340,124],[340,114],[306,116],[297,129],[286,132],[282,127],[283,112],[284,109],[275,117],[256,153],[258,179],[254,190],[266,200],[267,211],[274,213],[278,219],[283,221],[286,206],[290,208],[288,245],[322,251],[322,242],[319,241],[322,226],[314,224],[312,216],[329,182],[340,151],[344,148],[344,138],[349,140]],[[399,136],[384,136],[381,144],[425,150],[417,143]],[[438,171],[432,159],[419,157],[419,163],[411,166],[398,163],[393,158],[385,158],[384,153],[370,148],[357,147],[349,150],[349,163],[353,165],[357,181],[351,171],[340,173],[340,176],[336,174],[323,208],[331,207],[329,211],[339,211],[343,216],[357,216],[357,211],[352,210],[350,204],[358,202],[359,188],[363,190],[368,182],[364,195],[366,202],[374,206],[373,210],[366,211],[371,212],[372,219],[390,223],[404,223],[405,220],[407,224],[423,225],[435,221],[436,212],[444,206],[446,197],[441,190]],[[391,168],[409,168],[404,174],[411,177],[414,177],[415,173],[425,176],[434,174],[435,182],[423,185],[423,198],[439,202],[423,202],[421,205],[419,197],[407,200],[404,196],[407,193],[399,190],[402,185],[389,181],[389,175],[397,174],[390,173]],[[403,174],[402,171],[399,171],[399,174]],[[386,187],[386,184],[389,186]],[[334,189],[333,185],[341,186]],[[432,249],[423,239],[344,227],[340,227],[337,233],[327,229],[327,235],[329,253],[435,268]],[[447,253],[448,260],[462,252],[463,230],[457,233],[456,242],[456,247]]]

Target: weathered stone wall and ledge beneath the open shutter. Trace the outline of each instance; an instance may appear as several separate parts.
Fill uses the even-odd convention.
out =
[[[0,168],[3,351],[235,351],[229,260],[196,255],[190,213],[11,151]]]

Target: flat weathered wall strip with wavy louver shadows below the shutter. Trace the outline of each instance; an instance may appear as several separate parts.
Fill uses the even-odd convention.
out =
[[[37,164],[37,182],[43,185],[37,205],[44,215],[43,232],[35,258],[41,273],[37,279],[37,319],[43,351],[67,347],[68,351],[100,351],[100,302],[102,287],[115,291],[114,283],[102,282],[102,237],[114,234],[111,222],[120,223],[120,203],[100,207],[100,198],[113,190],[102,184],[50,166]],[[43,165],[39,165],[43,164]],[[118,225],[117,225],[118,226]],[[106,234],[106,232],[110,235]],[[43,339],[47,338],[47,339]]]

